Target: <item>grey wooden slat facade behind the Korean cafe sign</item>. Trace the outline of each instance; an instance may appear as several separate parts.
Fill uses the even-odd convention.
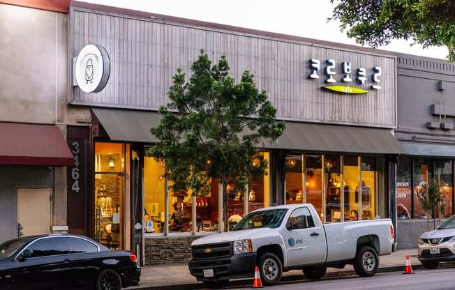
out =
[[[70,103],[103,107],[156,110],[167,103],[172,75],[190,66],[204,49],[212,61],[227,56],[235,79],[244,70],[255,75],[260,89],[278,109],[278,118],[295,121],[342,123],[383,128],[396,126],[396,58],[385,54],[337,49],[311,43],[265,38],[206,27],[158,22],[145,18],[108,15],[71,8],[70,56],[84,45],[102,45],[110,54],[111,76],[100,93],[70,90]],[[320,79],[308,79],[309,59],[321,61]],[[341,84],[341,62],[366,68],[365,85],[350,83],[368,93],[336,94],[321,89],[325,60],[336,61],[336,84]],[[380,90],[371,90],[373,67],[382,68]]]

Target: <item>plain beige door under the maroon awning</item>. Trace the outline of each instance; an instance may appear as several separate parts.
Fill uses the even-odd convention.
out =
[[[52,190],[17,190],[17,222],[23,236],[50,234],[52,225]]]

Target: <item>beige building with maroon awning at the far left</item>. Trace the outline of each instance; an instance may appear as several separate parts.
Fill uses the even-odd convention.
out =
[[[69,1],[17,2],[0,1],[0,243],[67,231],[66,125],[81,117],[66,114]]]

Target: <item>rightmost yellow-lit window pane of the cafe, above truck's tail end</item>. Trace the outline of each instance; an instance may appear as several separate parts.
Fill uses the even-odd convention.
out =
[[[361,218],[372,220],[376,216],[376,158],[361,157]]]

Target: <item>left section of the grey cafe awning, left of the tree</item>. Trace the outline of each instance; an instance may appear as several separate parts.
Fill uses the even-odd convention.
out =
[[[158,125],[161,114],[121,109],[91,109],[113,141],[156,143],[150,129]]]

